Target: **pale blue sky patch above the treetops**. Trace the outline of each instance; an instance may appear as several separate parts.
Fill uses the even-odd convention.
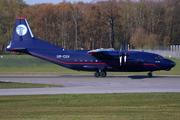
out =
[[[24,2],[26,2],[26,4],[29,5],[34,5],[34,4],[41,4],[41,3],[52,3],[52,4],[58,4],[63,2],[63,0],[23,0]],[[83,1],[84,3],[89,3],[89,2],[93,2],[93,1],[97,1],[97,0],[65,0],[66,2],[71,2],[73,3],[75,2],[79,2],[79,1]]]

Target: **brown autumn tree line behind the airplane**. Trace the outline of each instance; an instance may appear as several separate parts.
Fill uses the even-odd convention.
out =
[[[12,38],[17,17],[35,37],[69,50],[180,44],[179,0],[108,0],[27,5],[0,0],[0,47]]]

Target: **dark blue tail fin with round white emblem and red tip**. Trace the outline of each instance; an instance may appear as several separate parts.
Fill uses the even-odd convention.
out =
[[[14,33],[12,40],[9,42],[8,46],[6,47],[7,51],[17,51],[26,53],[29,52],[29,49],[39,49],[39,50],[58,50],[64,51],[64,48],[58,47],[51,43],[45,42],[41,39],[35,38],[29,24],[24,17],[20,17],[16,19]]]

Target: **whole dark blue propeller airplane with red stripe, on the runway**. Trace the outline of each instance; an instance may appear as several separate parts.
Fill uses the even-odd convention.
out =
[[[35,38],[25,17],[16,19],[7,51],[26,53],[54,64],[78,71],[94,71],[95,77],[106,72],[145,72],[171,70],[176,63],[155,53],[113,49],[67,50]]]

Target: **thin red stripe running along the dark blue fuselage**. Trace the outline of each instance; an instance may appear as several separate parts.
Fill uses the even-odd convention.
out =
[[[52,58],[49,58],[49,57],[45,57],[45,56],[42,56],[42,55],[39,55],[39,54],[36,54],[36,53],[32,53],[32,52],[30,52],[30,53],[32,55],[35,55],[35,56],[39,56],[39,57],[42,57],[42,58],[46,58],[46,59],[49,59],[49,60],[52,60],[52,61],[67,64],[67,65],[120,65],[120,63],[67,63],[67,62],[59,61],[59,60],[52,59]],[[152,64],[152,63],[143,63],[143,64],[141,64],[141,63],[123,63],[122,65],[152,65],[152,66],[155,66],[155,67],[157,67],[158,69],[161,70],[160,67],[158,67],[157,65]]]

